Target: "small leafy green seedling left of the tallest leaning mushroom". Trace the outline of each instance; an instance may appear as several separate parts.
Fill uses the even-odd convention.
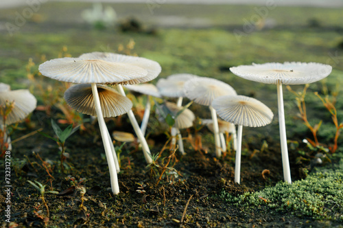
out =
[[[73,133],[75,133],[75,131],[78,130],[80,126],[76,126],[75,128],[73,128],[73,124],[71,124],[64,130],[61,130],[61,128],[56,124],[56,122],[54,122],[53,119],[51,119],[51,126],[54,129],[54,132],[57,137],[51,137],[50,135],[47,135],[46,133],[42,133],[42,132],[40,132],[40,134],[44,135],[45,137],[49,139],[56,141],[58,146],[60,146],[61,148],[60,167],[61,167],[62,173],[64,173],[63,161],[67,159],[67,157],[69,156],[68,153],[65,153],[65,141],[71,135],[73,135]]]

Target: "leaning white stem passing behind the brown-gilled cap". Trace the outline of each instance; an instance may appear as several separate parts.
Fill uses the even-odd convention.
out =
[[[126,94],[125,94],[121,84],[118,84],[117,87],[119,89],[119,93],[121,93],[121,95],[126,96]],[[143,148],[143,154],[144,154],[144,157],[145,157],[145,161],[147,161],[148,164],[151,164],[152,163],[152,158],[151,158],[149,146],[147,146],[147,141],[145,140],[145,137],[144,137],[144,135],[143,135],[143,133],[141,131],[141,128],[139,128],[139,125],[137,123],[137,119],[134,117],[132,109],[130,109],[128,111],[128,117],[130,119],[132,127],[134,128],[134,132],[136,133],[139,141],[141,141],[142,148]]]

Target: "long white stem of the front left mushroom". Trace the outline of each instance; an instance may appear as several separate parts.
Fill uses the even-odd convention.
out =
[[[110,141],[108,140],[108,130],[102,115],[102,108],[100,105],[99,94],[97,93],[97,84],[92,83],[92,93],[95,104],[95,111],[97,113],[97,122],[99,123],[100,133],[102,134],[102,142],[104,144],[106,159],[108,163],[108,170],[110,170],[110,185],[113,194],[119,193],[119,184],[117,177],[117,170],[115,167],[115,160],[113,159],[112,151],[110,148]]]

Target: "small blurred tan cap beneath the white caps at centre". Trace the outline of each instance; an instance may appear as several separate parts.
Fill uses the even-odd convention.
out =
[[[178,111],[183,109],[182,106],[180,107],[172,102],[165,102],[165,106],[174,116],[178,113]],[[182,111],[182,113],[180,113],[180,115],[178,115],[178,117],[175,118],[174,127],[178,129],[189,128],[193,126],[194,119],[196,119],[194,113],[189,109],[185,109],[184,111]]]

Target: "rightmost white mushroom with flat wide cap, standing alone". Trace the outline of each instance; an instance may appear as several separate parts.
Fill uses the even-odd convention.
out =
[[[271,62],[230,68],[230,71],[241,78],[277,85],[283,177],[287,183],[292,183],[292,179],[288,160],[282,84],[307,84],[316,82],[329,76],[331,70],[331,66],[316,62]]]

